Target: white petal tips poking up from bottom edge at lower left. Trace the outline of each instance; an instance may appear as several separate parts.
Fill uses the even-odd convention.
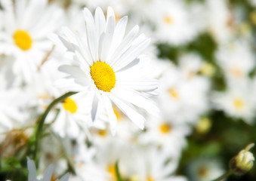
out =
[[[36,168],[34,161],[27,158],[27,167],[29,169],[29,181],[51,181],[52,174],[54,172],[54,166],[51,164],[46,170],[42,179],[37,179],[36,176]],[[69,179],[69,173],[66,173],[61,179],[57,179],[59,181],[67,181]]]

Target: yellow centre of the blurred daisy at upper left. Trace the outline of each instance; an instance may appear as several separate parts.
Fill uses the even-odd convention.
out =
[[[28,51],[32,47],[32,38],[29,33],[24,30],[14,32],[14,42],[23,51]]]

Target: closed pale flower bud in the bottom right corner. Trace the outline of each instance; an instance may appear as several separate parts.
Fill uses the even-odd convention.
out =
[[[246,146],[242,149],[238,155],[230,160],[230,169],[235,175],[242,175],[251,170],[253,166],[254,156],[251,152],[248,152],[254,146],[254,143]]]

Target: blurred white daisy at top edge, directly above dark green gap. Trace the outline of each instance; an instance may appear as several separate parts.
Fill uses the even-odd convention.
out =
[[[148,11],[150,20],[156,26],[155,35],[159,41],[180,45],[196,37],[196,27],[191,23],[189,10],[183,2],[154,1]]]

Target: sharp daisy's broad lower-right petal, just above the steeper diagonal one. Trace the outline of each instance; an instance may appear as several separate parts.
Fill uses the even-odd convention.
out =
[[[145,109],[152,115],[157,115],[157,113],[159,113],[159,107],[156,106],[152,100],[147,99],[147,97],[143,97],[143,95],[137,91],[114,88],[112,92],[116,95],[116,97],[119,97],[128,103],[132,103],[135,106]]]

